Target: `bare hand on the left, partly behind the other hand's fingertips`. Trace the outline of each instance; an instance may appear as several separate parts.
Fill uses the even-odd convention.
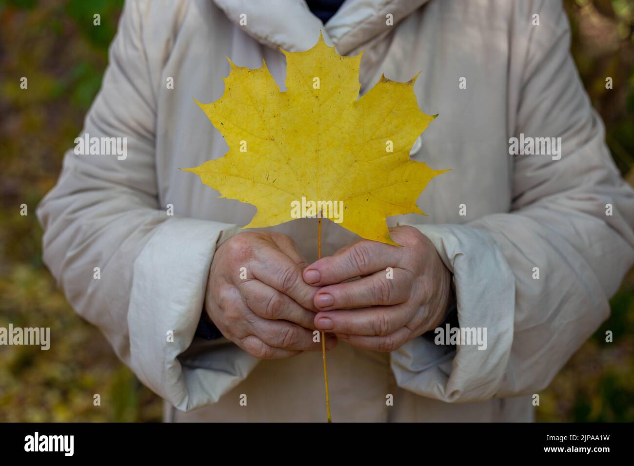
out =
[[[313,298],[319,288],[304,282],[307,265],[286,235],[238,233],[214,254],[205,311],[224,337],[256,358],[321,351],[321,342],[313,341]],[[240,278],[241,268],[247,278]],[[327,335],[326,348],[336,344],[337,337]]]

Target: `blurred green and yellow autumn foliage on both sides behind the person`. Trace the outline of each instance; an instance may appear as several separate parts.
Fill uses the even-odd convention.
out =
[[[614,160],[634,184],[634,0],[564,4],[579,73]],[[56,289],[35,216],[100,87],[121,7],[122,0],[0,0],[0,327],[51,327],[53,339],[49,351],[0,346],[0,421],[161,418],[160,399]],[[605,89],[608,76],[613,89]],[[611,318],[540,394],[538,420],[634,421],[634,271],[611,306]],[[605,342],[606,330],[614,342]]]

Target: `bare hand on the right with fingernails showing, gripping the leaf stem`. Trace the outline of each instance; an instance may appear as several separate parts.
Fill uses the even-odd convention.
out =
[[[304,282],[323,287],[314,296],[318,329],[360,348],[395,351],[444,320],[451,273],[433,243],[413,226],[391,228],[390,236],[401,247],[360,240],[304,269]]]

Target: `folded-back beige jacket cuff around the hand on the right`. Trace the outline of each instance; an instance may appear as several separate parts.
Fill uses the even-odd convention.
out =
[[[453,273],[460,328],[480,330],[484,344],[458,341],[453,347],[444,344],[444,338],[437,339],[439,344],[413,339],[391,353],[396,381],[411,392],[446,402],[492,398],[505,376],[513,342],[512,270],[500,247],[484,230],[465,225],[415,228],[434,243]],[[446,330],[443,328],[443,332]]]

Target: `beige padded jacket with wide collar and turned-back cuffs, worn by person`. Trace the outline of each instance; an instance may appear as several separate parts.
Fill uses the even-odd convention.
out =
[[[221,96],[225,56],[251,68],[264,58],[285,89],[277,49],[310,48],[320,27],[302,0],[128,1],[81,132],[126,137],[127,157],[69,150],[39,206],[44,261],[77,312],[171,405],[206,406],[169,418],[325,417],[319,353],[260,361],[195,338],[217,242],[255,209],[178,170],[228,150],[193,101]],[[579,81],[559,1],[347,0],[323,29],[340,53],[365,50],[362,94],[382,73],[422,71],[419,106],[440,117],[411,157],[453,171],[418,200],[428,217],[390,224],[429,236],[455,275],[460,325],[488,328],[485,351],[422,337],[391,354],[340,342],[328,355],[334,420],[530,420],[531,394],[607,318],[634,261],[634,193]],[[520,134],[562,138],[560,159],[509,155]],[[315,258],[314,219],[273,230]],[[325,254],[354,239],[329,222],[324,235]]]

